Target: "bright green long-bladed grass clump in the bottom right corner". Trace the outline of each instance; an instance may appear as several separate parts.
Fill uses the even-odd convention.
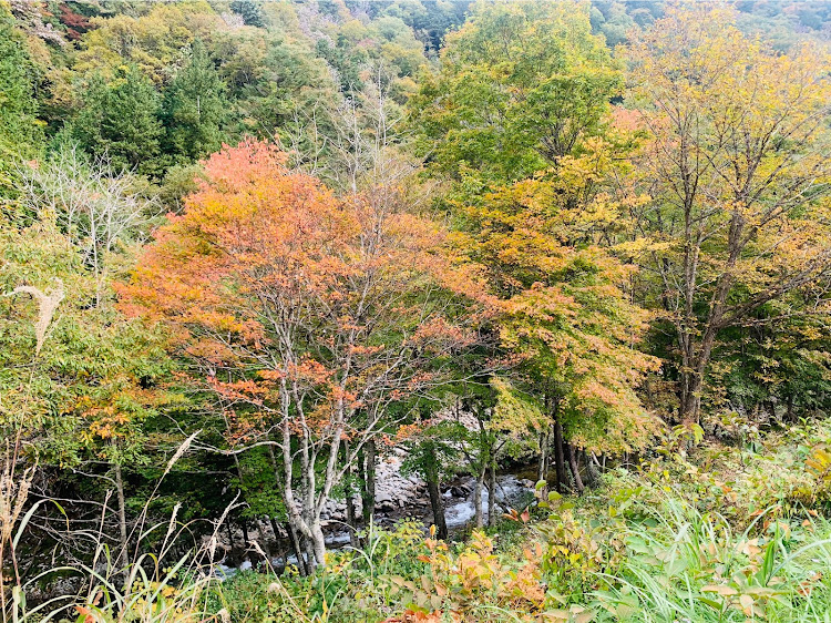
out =
[[[828,621],[827,520],[792,528],[760,514],[735,533],[724,517],[674,499],[655,519],[632,524],[622,564],[599,574],[606,589],[595,592],[598,621]]]

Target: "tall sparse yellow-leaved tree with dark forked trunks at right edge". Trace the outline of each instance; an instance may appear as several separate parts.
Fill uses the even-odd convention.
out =
[[[831,273],[829,54],[774,52],[728,9],[677,8],[627,50],[648,131],[634,175],[643,275],[675,336],[679,419],[699,419],[719,334]]]

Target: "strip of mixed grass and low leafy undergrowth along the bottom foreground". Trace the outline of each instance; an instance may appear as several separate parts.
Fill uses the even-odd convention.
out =
[[[138,564],[120,591],[90,572],[70,619],[829,622],[829,439],[811,427],[752,448],[668,443],[581,498],[540,487],[531,509],[462,542],[414,522],[372,527],[365,548],[331,552],[310,578],[289,568],[219,581],[181,561]],[[16,604],[17,621],[48,620]]]

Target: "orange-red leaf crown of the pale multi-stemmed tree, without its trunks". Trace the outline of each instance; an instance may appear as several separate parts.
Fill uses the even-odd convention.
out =
[[[358,405],[366,400],[357,387],[347,382],[338,394],[341,372],[353,372],[335,362],[351,370],[393,356],[381,339],[389,334],[375,339],[378,326],[368,319],[384,319],[408,348],[438,354],[464,339],[412,294],[449,275],[437,253],[442,233],[429,221],[338,198],[287,170],[263,142],[226,147],[205,172],[207,182],[182,216],[170,216],[123,293],[125,309],[184,329],[182,347],[209,376],[252,366],[265,384],[291,378]],[[281,365],[256,355],[271,351],[285,355]]]

